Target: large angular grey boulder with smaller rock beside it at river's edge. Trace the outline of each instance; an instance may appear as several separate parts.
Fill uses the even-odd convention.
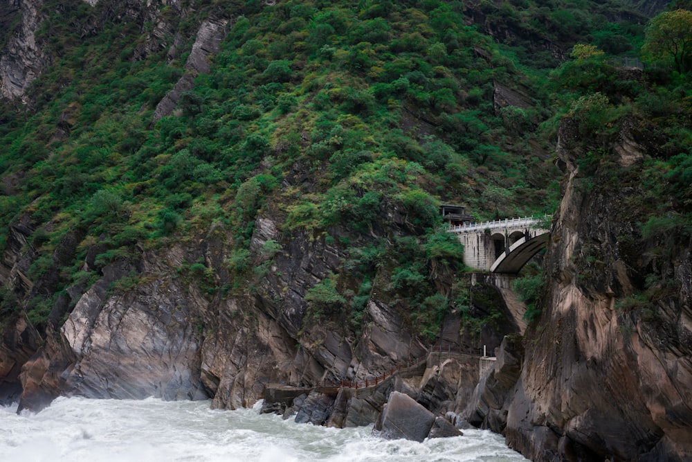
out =
[[[428,436],[461,435],[458,430],[456,433],[452,431],[456,430],[452,425],[444,425],[444,423],[436,425],[435,432],[431,434],[433,424],[435,424],[435,416],[432,412],[419,405],[410,396],[392,391],[388,403],[382,409],[380,419],[375,424],[374,432],[389,440],[405,438],[419,443]]]

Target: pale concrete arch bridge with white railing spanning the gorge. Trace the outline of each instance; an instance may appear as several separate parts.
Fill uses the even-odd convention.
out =
[[[549,238],[549,217],[523,217],[452,226],[464,245],[466,266],[501,274],[517,274]]]

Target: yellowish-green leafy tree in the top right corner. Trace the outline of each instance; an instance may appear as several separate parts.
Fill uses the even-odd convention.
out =
[[[672,59],[678,73],[692,70],[692,11],[667,11],[651,19],[642,51],[650,60]]]

